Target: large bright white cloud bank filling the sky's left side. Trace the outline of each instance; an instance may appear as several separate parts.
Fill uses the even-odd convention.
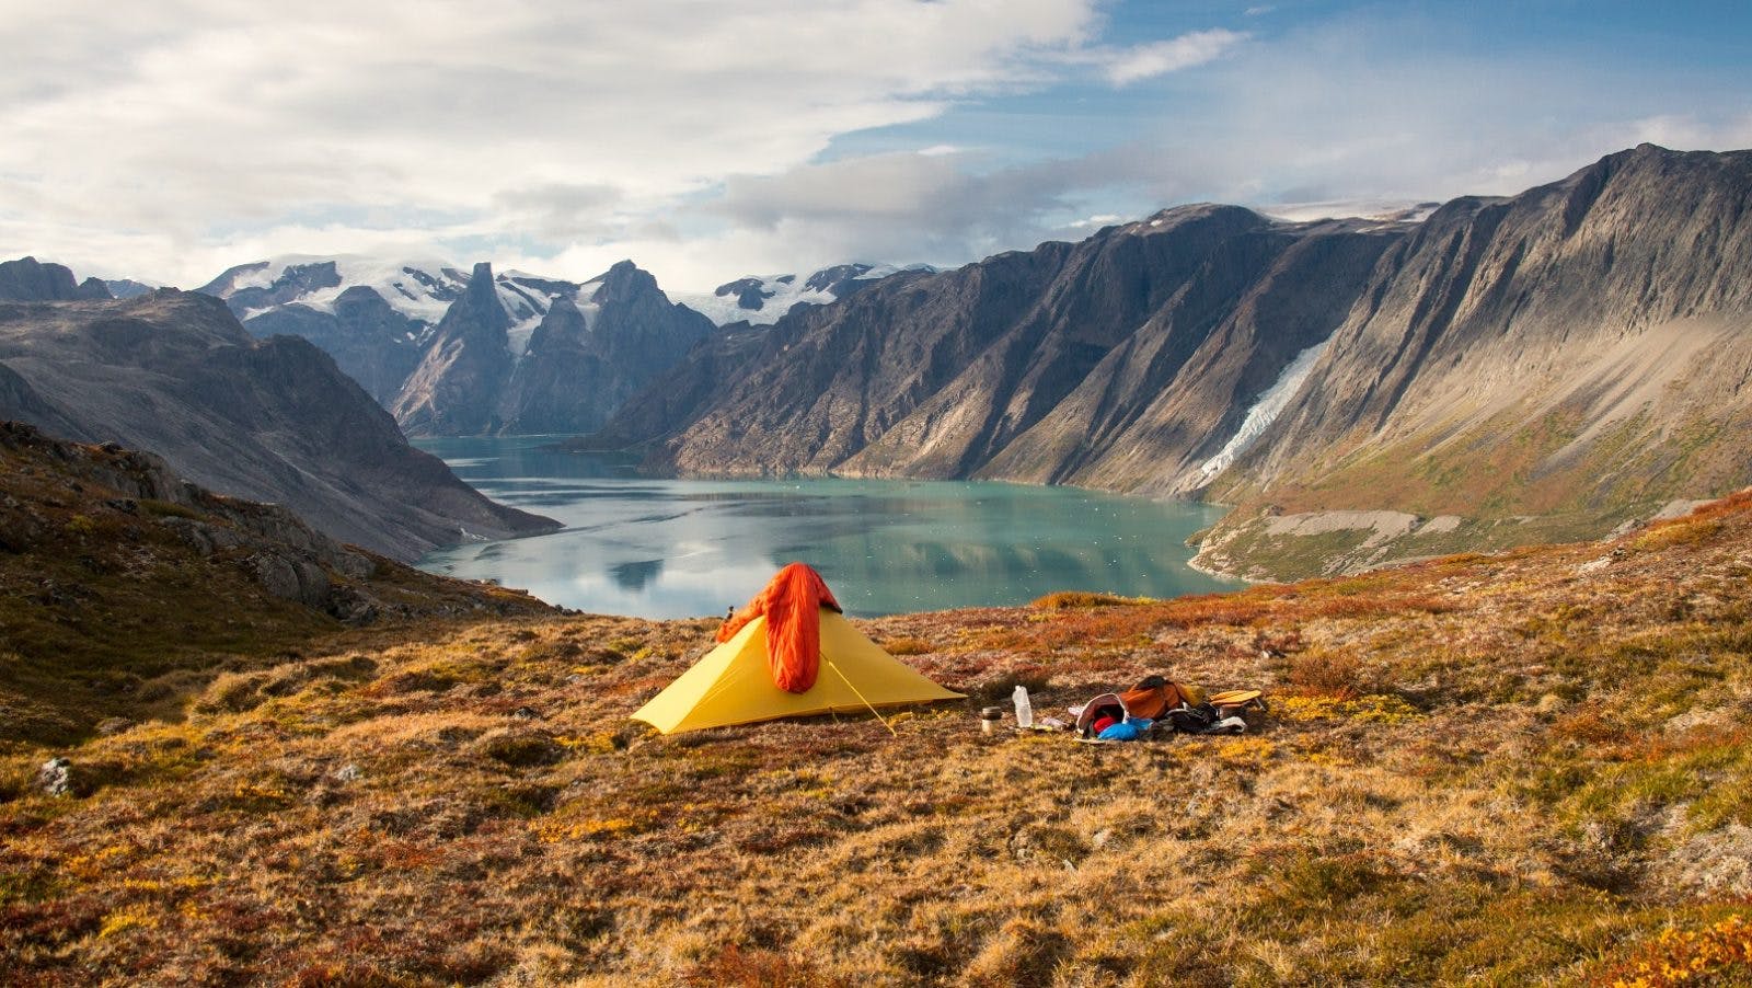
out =
[[[266,231],[611,235],[1034,84],[1097,25],[1095,0],[7,7],[0,247],[123,273],[107,249],[154,243],[137,273],[184,284]]]

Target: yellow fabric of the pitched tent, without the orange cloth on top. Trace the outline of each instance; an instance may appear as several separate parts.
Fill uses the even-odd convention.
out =
[[[822,671],[808,692],[788,694],[774,687],[766,652],[766,618],[759,617],[694,662],[632,718],[675,734],[780,716],[964,699],[888,655],[827,608],[822,608]]]

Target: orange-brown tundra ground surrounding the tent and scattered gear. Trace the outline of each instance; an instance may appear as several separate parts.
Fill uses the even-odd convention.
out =
[[[715,620],[482,617],[0,759],[7,984],[1752,979],[1752,499],[860,622],[969,702],[655,736]],[[0,659],[4,660],[4,659]],[[1240,737],[985,736],[1165,673]],[[72,762],[74,794],[33,776]]]

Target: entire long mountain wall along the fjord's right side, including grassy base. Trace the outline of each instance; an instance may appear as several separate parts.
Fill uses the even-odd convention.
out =
[[[1748,203],[1752,152],[1640,145],[1423,219],[1179,207],[718,336],[587,445],[1218,499],[1249,575],[1598,534],[1752,482]]]

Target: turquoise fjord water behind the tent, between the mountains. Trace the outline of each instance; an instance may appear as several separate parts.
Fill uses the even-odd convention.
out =
[[[820,569],[857,617],[1023,604],[1055,590],[1233,589],[1186,566],[1223,510],[1074,487],[937,480],[653,480],[554,438],[422,440],[489,498],[566,524],[420,559],[590,613],[722,615],[780,566]]]

